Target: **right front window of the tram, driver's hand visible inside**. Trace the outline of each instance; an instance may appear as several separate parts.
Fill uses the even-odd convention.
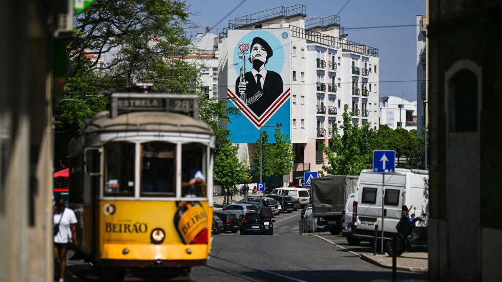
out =
[[[182,145],[181,197],[206,197],[206,148],[199,143]]]

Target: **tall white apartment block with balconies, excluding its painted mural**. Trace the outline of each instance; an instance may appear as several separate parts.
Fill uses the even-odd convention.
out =
[[[342,125],[344,104],[348,105],[353,124],[368,123],[371,128],[379,128],[378,49],[348,41],[339,16],[306,19],[304,5],[238,17],[229,20],[228,26],[230,30],[273,28],[289,28],[291,37],[291,120],[286,126],[290,126],[296,155],[293,170],[321,170],[327,164],[321,144],[329,145],[333,125]],[[223,81],[226,32],[215,39]],[[225,86],[220,86],[219,93],[220,99],[226,97]],[[239,154],[249,154],[256,148],[254,143],[239,145]]]

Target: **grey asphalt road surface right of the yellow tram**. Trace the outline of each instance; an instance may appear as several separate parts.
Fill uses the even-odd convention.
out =
[[[300,210],[277,215],[274,235],[213,235],[207,266],[192,269],[193,281],[374,281],[391,271],[374,266],[318,237],[299,234]],[[341,236],[333,236],[340,243]],[[362,248],[368,246],[362,246]],[[399,280],[427,280],[399,272]]]

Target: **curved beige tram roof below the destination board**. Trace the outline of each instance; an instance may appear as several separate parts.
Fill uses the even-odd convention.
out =
[[[214,135],[211,125],[190,116],[169,112],[133,112],[110,117],[109,111],[98,112],[86,122],[82,134],[107,132],[181,132]]]

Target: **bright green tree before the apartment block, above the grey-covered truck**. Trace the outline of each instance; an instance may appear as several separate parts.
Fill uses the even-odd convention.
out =
[[[344,105],[342,117],[343,125],[340,128],[343,134],[339,135],[338,126],[334,124],[331,147],[322,144],[328,158],[328,165],[323,165],[322,168],[330,175],[359,175],[361,170],[371,165],[371,138],[374,133],[367,124],[362,128],[352,124],[347,104]]]

